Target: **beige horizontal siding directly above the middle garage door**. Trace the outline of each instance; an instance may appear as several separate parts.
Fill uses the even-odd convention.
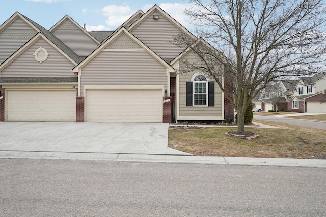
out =
[[[166,67],[146,51],[100,52],[82,68],[84,85],[165,85]]]

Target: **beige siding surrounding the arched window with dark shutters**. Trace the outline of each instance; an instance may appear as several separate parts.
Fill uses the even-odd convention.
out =
[[[194,58],[192,53],[184,56],[184,58]],[[182,68],[182,61],[180,63],[180,68]],[[214,105],[209,107],[196,107],[196,106],[186,106],[186,82],[192,81],[192,76],[196,72],[181,74],[179,77],[179,118],[182,119],[183,116],[222,116],[222,90],[219,88],[218,84],[215,83],[214,88]],[[224,112],[224,111],[223,111]]]

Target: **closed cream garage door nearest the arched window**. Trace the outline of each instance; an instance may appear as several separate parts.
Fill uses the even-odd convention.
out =
[[[87,122],[162,122],[161,89],[87,89]]]

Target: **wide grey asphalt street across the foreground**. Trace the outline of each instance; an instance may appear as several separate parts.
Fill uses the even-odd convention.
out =
[[[325,216],[324,168],[0,159],[1,216]]]

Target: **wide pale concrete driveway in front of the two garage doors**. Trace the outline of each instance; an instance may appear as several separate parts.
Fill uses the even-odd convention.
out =
[[[0,122],[0,150],[178,154],[168,148],[168,128],[164,123]]]

